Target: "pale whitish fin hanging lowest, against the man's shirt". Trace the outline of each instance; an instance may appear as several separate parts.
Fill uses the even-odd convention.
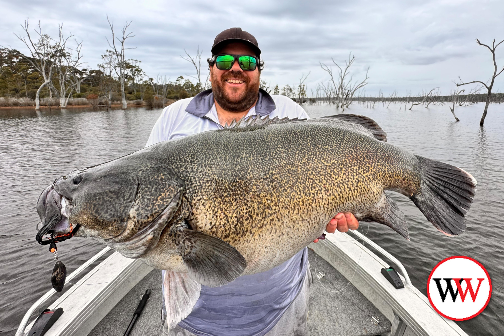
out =
[[[167,327],[173,327],[191,314],[196,301],[200,298],[201,284],[187,273],[165,271],[163,285],[165,323]]]

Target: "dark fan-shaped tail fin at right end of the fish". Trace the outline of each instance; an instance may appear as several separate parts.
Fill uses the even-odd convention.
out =
[[[464,217],[476,192],[476,179],[458,167],[415,155],[420,191],[410,198],[434,227],[447,236],[464,232]]]

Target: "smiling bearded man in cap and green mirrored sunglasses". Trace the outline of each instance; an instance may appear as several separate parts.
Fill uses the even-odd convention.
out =
[[[257,40],[241,28],[224,30],[208,59],[212,89],[166,107],[147,146],[198,132],[222,129],[242,117],[308,118],[291,99],[259,88],[263,62]],[[357,229],[350,213],[340,213],[326,231]],[[314,240],[317,242],[318,239]],[[191,314],[170,328],[170,335],[279,336],[306,334],[311,273],[307,249],[272,270],[241,276],[210,288],[202,286]],[[164,295],[163,295],[164,298]],[[164,303],[163,303],[164,306]]]

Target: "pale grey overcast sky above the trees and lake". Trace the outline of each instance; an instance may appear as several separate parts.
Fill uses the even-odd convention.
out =
[[[199,46],[207,58],[219,32],[241,27],[257,38],[266,63],[261,77],[273,86],[296,84],[311,72],[306,83],[314,89],[328,79],[319,62],[329,64],[333,57],[344,63],[352,52],[355,79],[369,66],[367,95],[379,90],[415,94],[433,87],[448,94],[458,76],[487,81],[493,72],[491,54],[475,39],[487,44],[504,39],[502,0],[0,0],[0,6],[0,45],[21,52],[27,49],[13,33],[23,33],[20,24],[26,18],[32,28],[40,20],[51,36],[63,22],[66,33],[83,40],[85,61],[96,68],[110,36],[108,14],[117,30],[133,21],[136,36],[128,46],[136,49],[128,51],[128,58],[141,60],[150,77],[175,80],[194,75],[192,65],[179,57],[184,48],[194,54]],[[497,64],[504,66],[504,43],[496,53]],[[504,75],[494,91],[504,91]]]

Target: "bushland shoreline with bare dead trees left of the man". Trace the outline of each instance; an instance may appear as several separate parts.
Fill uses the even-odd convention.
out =
[[[141,61],[127,58],[131,48],[125,42],[134,36],[127,32],[131,22],[118,35],[113,23],[109,24],[109,48],[101,55],[97,69],[91,69],[83,62],[82,41],[72,40],[72,34],[65,35],[62,25],[57,38],[45,34],[40,23],[32,36],[25,21],[24,35],[17,36],[29,54],[0,48],[0,97],[33,100],[36,109],[44,98],[57,100],[61,108],[66,108],[73,98],[87,98],[105,106],[119,101],[126,108],[128,101],[162,105],[169,99],[192,97],[204,89],[201,83],[194,84],[183,76],[174,81],[166,76],[148,76]]]

